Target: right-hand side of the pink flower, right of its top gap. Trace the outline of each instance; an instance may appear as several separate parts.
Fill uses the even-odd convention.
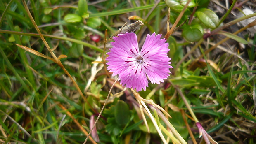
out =
[[[171,58],[168,58],[167,52],[169,51],[166,39],[160,39],[161,35],[147,35],[144,45],[141,49],[141,55],[144,59],[143,65],[145,72],[151,83],[160,84],[164,82],[170,75],[169,68],[173,68],[169,64]]]

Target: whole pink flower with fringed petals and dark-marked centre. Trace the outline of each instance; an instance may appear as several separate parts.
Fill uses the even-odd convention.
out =
[[[169,51],[166,39],[160,39],[161,35],[147,35],[142,49],[139,50],[137,35],[135,33],[119,34],[113,37],[113,48],[109,49],[106,58],[107,68],[113,72],[113,76],[119,75],[120,84],[128,88],[136,88],[137,91],[146,90],[148,80],[151,83],[160,84],[170,75],[168,58]]]

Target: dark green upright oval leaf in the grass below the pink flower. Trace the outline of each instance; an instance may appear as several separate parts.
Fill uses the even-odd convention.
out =
[[[119,100],[116,103],[115,119],[116,123],[119,125],[125,125],[126,123],[128,123],[128,121],[130,121],[129,107],[126,102]]]

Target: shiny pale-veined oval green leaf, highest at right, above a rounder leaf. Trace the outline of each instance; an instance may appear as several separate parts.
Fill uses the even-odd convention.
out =
[[[197,15],[198,19],[204,23],[205,26],[209,28],[216,28],[218,26],[219,18],[217,14],[215,14],[210,9],[201,8],[198,9],[195,14]]]

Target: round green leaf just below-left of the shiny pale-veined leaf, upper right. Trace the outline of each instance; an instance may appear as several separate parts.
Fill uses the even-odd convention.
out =
[[[199,24],[187,26],[183,29],[182,35],[188,42],[197,42],[203,36],[203,28]]]

